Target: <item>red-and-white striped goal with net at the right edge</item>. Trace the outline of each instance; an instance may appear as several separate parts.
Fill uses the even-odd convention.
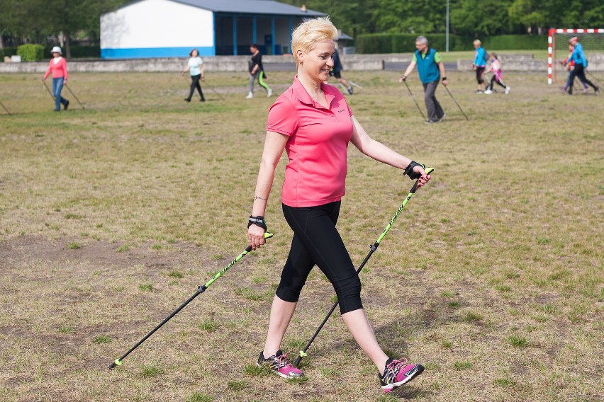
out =
[[[569,57],[569,39],[574,36],[583,45],[583,51],[587,57],[586,77],[593,84],[602,86],[604,81],[604,28],[551,28],[547,38],[547,84],[563,83],[568,78],[569,70],[561,62]]]

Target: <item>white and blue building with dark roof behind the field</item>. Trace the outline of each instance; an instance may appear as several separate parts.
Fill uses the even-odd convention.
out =
[[[272,0],[138,0],[101,16],[101,58],[291,52],[291,32],[325,13]]]

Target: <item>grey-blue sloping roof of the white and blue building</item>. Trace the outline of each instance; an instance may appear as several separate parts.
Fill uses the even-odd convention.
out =
[[[130,1],[119,8],[125,8],[130,4],[144,0]],[[236,14],[264,14],[269,16],[297,16],[297,17],[322,17],[327,14],[319,11],[290,6],[273,0],[171,0],[181,4],[187,4],[203,8],[214,13],[236,13]]]

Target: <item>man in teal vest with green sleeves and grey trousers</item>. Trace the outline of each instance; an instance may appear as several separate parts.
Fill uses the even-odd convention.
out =
[[[444,64],[442,63],[442,57],[436,50],[428,47],[428,41],[425,36],[418,36],[415,39],[415,53],[413,53],[413,59],[407,67],[405,74],[401,76],[399,82],[403,82],[407,79],[411,71],[418,66],[418,73],[420,74],[420,81],[424,86],[424,100],[426,103],[428,124],[442,122],[445,113],[438,103],[435,92],[438,86],[438,81],[442,79],[442,85],[447,86],[447,75],[444,74]]]

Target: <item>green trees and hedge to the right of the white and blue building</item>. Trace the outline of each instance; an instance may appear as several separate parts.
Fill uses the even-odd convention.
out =
[[[447,0],[281,0],[330,14],[343,32],[446,33]],[[449,0],[449,33],[541,34],[547,28],[603,28],[602,0]]]

